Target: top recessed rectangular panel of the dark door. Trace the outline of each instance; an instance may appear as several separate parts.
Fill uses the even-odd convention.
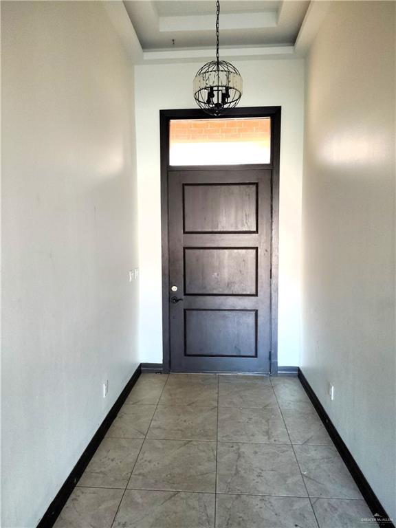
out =
[[[185,184],[185,233],[257,232],[257,184]]]

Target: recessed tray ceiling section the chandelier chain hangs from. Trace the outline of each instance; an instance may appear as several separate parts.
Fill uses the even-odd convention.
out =
[[[125,0],[143,50],[213,47],[216,2]],[[294,45],[309,1],[221,1],[220,46]]]

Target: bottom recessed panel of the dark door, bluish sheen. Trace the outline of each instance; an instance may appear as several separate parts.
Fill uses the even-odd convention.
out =
[[[256,358],[256,310],[184,311],[187,356]]]

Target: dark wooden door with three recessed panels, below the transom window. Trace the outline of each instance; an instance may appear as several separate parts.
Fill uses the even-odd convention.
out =
[[[269,372],[271,170],[169,170],[168,214],[170,369]]]

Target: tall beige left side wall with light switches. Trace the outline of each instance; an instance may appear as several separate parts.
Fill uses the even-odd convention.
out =
[[[1,526],[32,528],[137,367],[133,67],[90,1],[1,2],[1,61]]]

